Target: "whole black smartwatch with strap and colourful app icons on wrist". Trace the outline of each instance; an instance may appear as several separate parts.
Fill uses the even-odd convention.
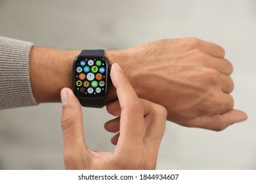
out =
[[[103,107],[109,93],[110,62],[104,50],[83,50],[74,59],[73,92],[83,107]]]

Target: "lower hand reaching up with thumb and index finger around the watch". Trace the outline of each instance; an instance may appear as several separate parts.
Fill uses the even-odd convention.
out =
[[[114,152],[93,151],[87,147],[83,131],[81,105],[72,90],[64,88],[62,131],[66,169],[156,169],[158,149],[167,111],[160,105],[139,99],[119,65],[113,64],[111,78],[119,101],[108,111],[116,119],[107,122],[109,131],[117,132],[112,142]],[[111,110],[117,108],[117,110]]]

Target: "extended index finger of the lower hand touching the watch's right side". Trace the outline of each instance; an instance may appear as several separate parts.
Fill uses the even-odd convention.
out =
[[[112,83],[117,90],[121,107],[120,137],[125,141],[142,141],[144,107],[133,90],[131,83],[117,63],[112,64],[110,72]]]

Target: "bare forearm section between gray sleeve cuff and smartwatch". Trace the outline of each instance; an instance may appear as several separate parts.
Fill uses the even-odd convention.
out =
[[[59,102],[60,90],[72,87],[72,63],[79,52],[32,47],[30,82],[37,103]]]

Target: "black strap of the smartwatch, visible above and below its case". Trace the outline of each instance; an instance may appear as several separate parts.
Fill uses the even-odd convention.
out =
[[[105,57],[104,55],[104,50],[82,50],[79,56],[102,56]],[[94,107],[94,108],[102,108],[104,107],[103,105],[103,100],[104,98],[92,98],[92,99],[82,99],[78,98],[79,102],[83,107]]]

